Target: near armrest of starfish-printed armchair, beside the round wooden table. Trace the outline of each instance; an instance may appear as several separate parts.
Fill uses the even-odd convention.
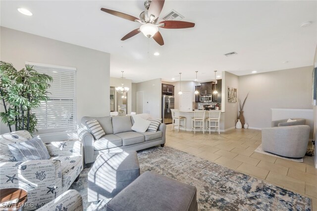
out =
[[[62,193],[59,160],[29,160],[0,163],[0,188],[21,188],[28,192],[28,203],[34,210],[51,202]]]

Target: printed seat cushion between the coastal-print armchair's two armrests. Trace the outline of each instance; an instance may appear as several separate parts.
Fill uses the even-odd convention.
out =
[[[58,172],[57,176],[58,178],[62,178],[61,183],[64,192],[68,190],[72,182],[83,169],[82,156],[59,156],[52,157],[52,159],[60,161],[61,172]]]

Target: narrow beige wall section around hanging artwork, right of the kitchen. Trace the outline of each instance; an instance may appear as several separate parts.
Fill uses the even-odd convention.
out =
[[[228,87],[237,88],[237,95],[239,97],[239,78],[238,76],[229,73],[222,72],[222,99],[221,99],[221,111],[224,111],[224,122],[220,125],[220,128],[224,130],[234,128],[236,126],[236,120],[238,118],[238,99],[237,103],[228,103]],[[221,114],[223,115],[223,113]],[[220,122],[221,124],[221,122]]]

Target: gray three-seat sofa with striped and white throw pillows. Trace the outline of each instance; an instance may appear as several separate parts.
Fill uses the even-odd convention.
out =
[[[95,140],[87,130],[86,121],[97,119],[106,135]],[[134,123],[133,116],[105,116],[81,119],[82,127],[77,131],[84,146],[84,161],[90,166],[98,155],[103,153],[117,153],[122,151],[138,151],[160,145],[164,147],[166,125],[161,123],[157,132],[144,133],[131,130]]]

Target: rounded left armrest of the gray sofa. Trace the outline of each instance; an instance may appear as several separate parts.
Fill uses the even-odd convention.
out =
[[[77,130],[77,135],[79,140],[82,141],[83,146],[84,146],[84,161],[85,163],[91,163],[94,162],[94,143],[95,139],[93,135],[85,128],[85,127],[80,127]]]

